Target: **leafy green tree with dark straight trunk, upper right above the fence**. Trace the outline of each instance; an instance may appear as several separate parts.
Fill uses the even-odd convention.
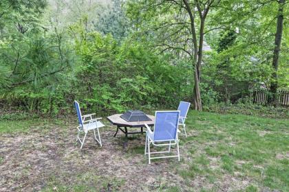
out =
[[[283,25],[288,23],[288,5],[286,0],[228,0],[215,9],[208,21],[213,29],[228,28],[236,32],[234,45],[223,52],[242,70],[239,74],[244,74],[243,80],[255,88],[266,86],[271,91],[272,102],[277,88],[288,88],[289,82],[288,35],[282,35],[286,33]],[[217,30],[214,37],[215,34],[222,34],[222,30]]]

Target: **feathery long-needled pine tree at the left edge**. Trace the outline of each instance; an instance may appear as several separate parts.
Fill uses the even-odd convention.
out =
[[[69,65],[69,50],[63,34],[44,25],[46,0],[0,5],[0,81],[13,88],[55,79]]]

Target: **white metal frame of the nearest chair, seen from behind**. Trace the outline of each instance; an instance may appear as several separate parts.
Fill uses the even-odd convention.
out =
[[[157,112],[162,112],[162,111],[156,111]],[[170,110],[170,111],[165,111],[165,112],[175,112],[175,110]],[[180,112],[180,111],[179,111]],[[155,117],[156,117],[155,114]],[[154,135],[154,132],[151,131],[151,128],[149,128],[149,125],[144,124],[145,127],[147,128],[147,131],[151,134]],[[156,125],[156,119],[155,119],[155,125]],[[156,159],[156,158],[173,158],[173,157],[178,157],[178,161],[180,161],[180,149],[179,149],[179,140],[178,140],[178,125],[176,128],[176,135],[175,135],[175,139],[169,141],[169,140],[158,140],[158,141],[153,141],[151,140],[151,138],[148,136],[148,134],[146,135],[146,139],[145,139],[145,147],[144,147],[144,155],[149,154],[149,164],[151,164],[151,159]],[[172,143],[173,141],[173,143]],[[157,144],[155,142],[159,142],[160,144]],[[162,143],[162,142],[169,142],[169,143]],[[150,151],[150,145],[153,144],[153,146],[168,146],[168,150],[167,151],[161,151],[161,152],[151,152]],[[164,154],[164,153],[170,153],[171,152],[171,145],[177,145],[177,152],[178,155],[175,156],[156,156],[156,157],[151,157],[151,154]],[[148,152],[147,152],[148,151]]]

